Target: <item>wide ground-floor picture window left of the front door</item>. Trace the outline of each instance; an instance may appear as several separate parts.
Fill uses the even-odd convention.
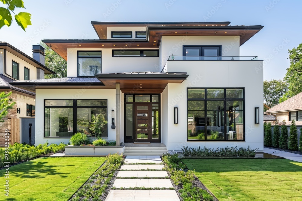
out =
[[[107,121],[107,100],[44,100],[44,137],[71,137],[83,132],[95,136],[93,124]],[[107,123],[101,131],[108,137]]]

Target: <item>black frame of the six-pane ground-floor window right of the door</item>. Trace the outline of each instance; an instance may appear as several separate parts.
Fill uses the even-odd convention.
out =
[[[199,99],[196,99],[196,98],[192,98],[192,99],[188,99],[188,89],[204,89],[204,98],[199,98]],[[215,98],[210,98],[210,99],[207,99],[207,89],[224,89],[224,98],[223,99],[215,99]],[[227,89],[243,89],[243,98],[227,98],[226,97],[226,90]],[[205,134],[204,134],[204,140],[189,140],[188,139],[188,101],[194,101],[194,100],[197,100],[197,101],[204,101],[204,117],[205,117],[205,125],[204,125],[204,131],[205,131]],[[207,140],[207,101],[217,101],[217,100],[223,100],[223,106],[224,106],[224,118],[223,118],[223,121],[224,121],[224,140]],[[226,111],[228,111],[228,109],[226,108],[226,101],[235,101],[235,100],[241,100],[243,101],[243,110],[240,110],[240,111],[243,111],[243,140],[228,140],[227,137],[226,137],[226,134],[227,134],[227,129],[226,129]],[[190,110],[190,111],[193,111],[193,110]],[[210,142],[210,141],[223,141],[223,142],[226,142],[226,141],[245,141],[245,88],[244,87],[187,87],[187,141],[190,141],[190,142],[195,142],[195,141],[202,141],[202,142]]]

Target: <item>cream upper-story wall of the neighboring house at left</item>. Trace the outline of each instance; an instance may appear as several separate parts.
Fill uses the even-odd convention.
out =
[[[35,80],[37,79],[37,68],[33,65],[27,63],[16,55],[11,54],[6,51],[6,75],[9,77],[12,76],[12,61],[15,61],[19,64],[19,80],[24,80],[24,67],[29,69],[29,79]]]

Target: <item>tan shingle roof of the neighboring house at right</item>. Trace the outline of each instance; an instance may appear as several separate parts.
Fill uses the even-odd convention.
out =
[[[295,111],[295,110],[302,110],[302,92],[272,107],[271,109],[267,110],[265,113],[268,114],[268,113],[277,113],[281,111]]]

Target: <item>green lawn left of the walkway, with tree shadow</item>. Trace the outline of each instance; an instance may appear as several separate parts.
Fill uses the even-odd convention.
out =
[[[9,197],[0,170],[0,200],[68,200],[103,164],[102,157],[38,158],[9,168]]]

